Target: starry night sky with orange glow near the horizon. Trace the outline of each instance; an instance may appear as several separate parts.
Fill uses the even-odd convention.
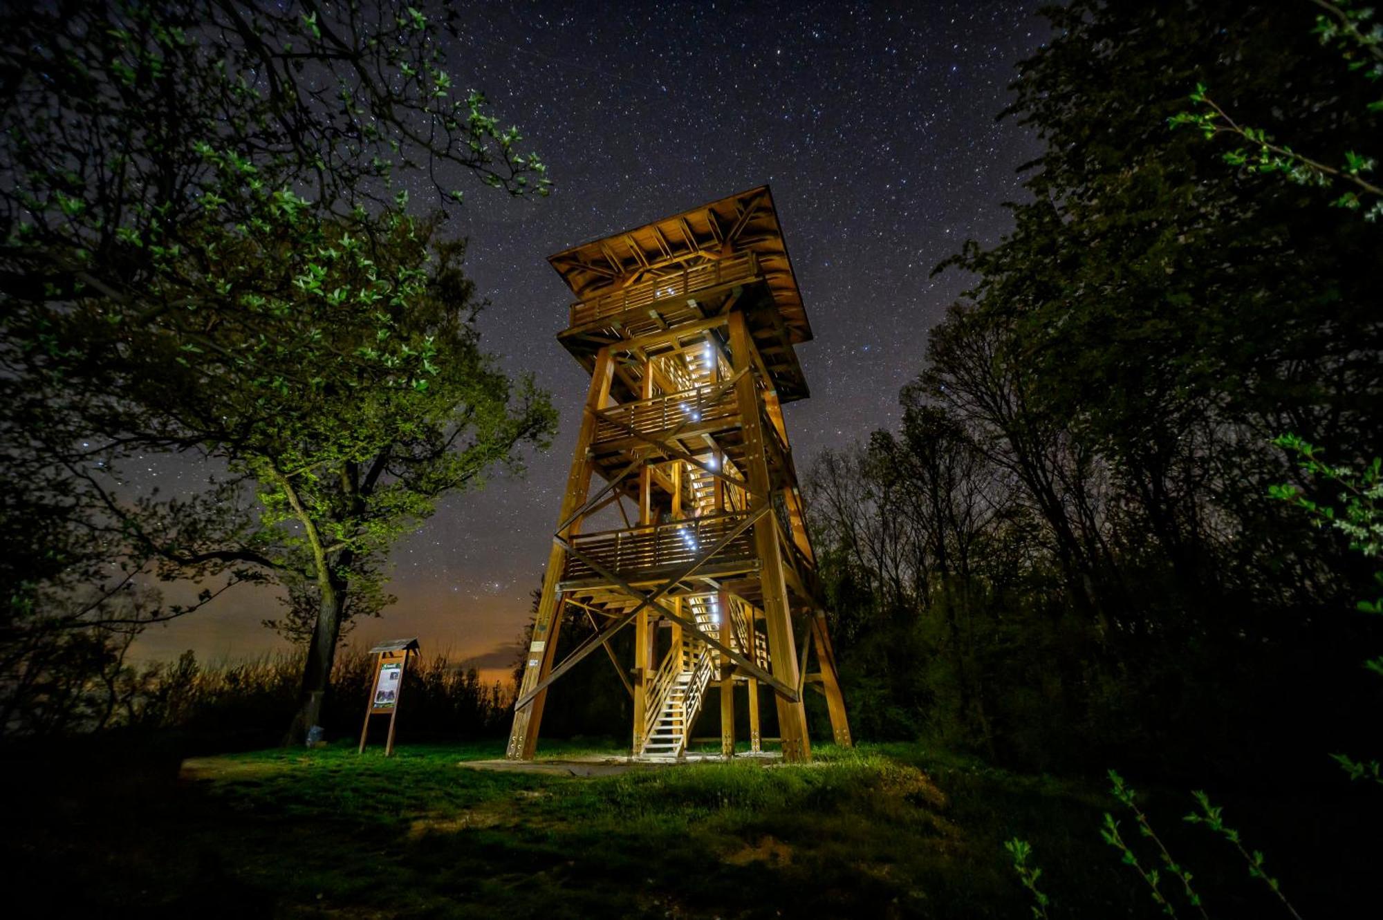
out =
[[[588,374],[557,345],[570,291],[546,256],[762,182],[773,186],[816,334],[798,354],[812,399],[786,409],[798,471],[898,417],[927,330],[964,286],[932,267],[967,238],[1008,229],[1015,169],[1039,152],[1011,122],[1014,65],[1046,36],[1036,4],[501,4],[463,12],[452,80],[484,91],[550,167],[552,198],[510,202],[473,180],[447,229],[470,238],[491,300],[483,341],[553,391],[561,430],[523,481],[449,499],[394,553],[384,619],[351,642],[418,635],[425,653],[513,660],[539,583]],[[411,200],[436,202],[420,181]],[[138,471],[136,467],[134,471]],[[159,460],[160,479],[205,478]],[[173,483],[169,483],[173,485]],[[177,591],[170,591],[176,600]],[[137,656],[192,648],[203,660],[285,648],[260,626],[266,590],[155,627]]]

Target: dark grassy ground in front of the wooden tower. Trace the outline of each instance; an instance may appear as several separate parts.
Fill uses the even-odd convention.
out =
[[[1111,800],[1080,783],[920,745],[584,779],[459,765],[501,754],[346,743],[198,758],[142,797],[36,805],[3,858],[72,916],[1018,917],[1003,851],[1017,834],[1054,917],[1156,916],[1098,840]],[[1228,898],[1220,916],[1263,906],[1209,888]]]

